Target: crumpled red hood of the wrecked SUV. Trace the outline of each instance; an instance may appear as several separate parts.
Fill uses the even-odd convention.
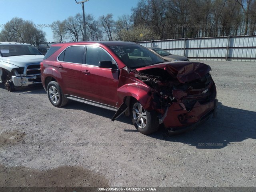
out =
[[[200,62],[166,62],[137,68],[137,71],[143,71],[152,68],[166,70],[172,77],[177,78],[180,83],[190,82],[199,79],[210,72],[210,66]]]

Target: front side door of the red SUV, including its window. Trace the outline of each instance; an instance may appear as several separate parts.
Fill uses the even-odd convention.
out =
[[[99,68],[98,63],[104,60],[116,64],[114,58],[103,48],[87,46],[86,62],[81,69],[83,98],[115,107],[119,70]]]

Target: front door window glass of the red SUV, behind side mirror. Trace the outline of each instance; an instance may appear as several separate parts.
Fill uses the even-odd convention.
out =
[[[88,46],[86,50],[86,64],[98,66],[100,61],[112,61],[113,64],[116,64],[112,57],[103,49]]]

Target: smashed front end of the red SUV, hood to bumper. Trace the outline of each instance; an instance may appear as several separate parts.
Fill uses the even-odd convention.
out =
[[[216,116],[216,86],[210,66],[178,62],[137,69],[135,77],[152,88],[150,108],[169,134],[193,129]]]

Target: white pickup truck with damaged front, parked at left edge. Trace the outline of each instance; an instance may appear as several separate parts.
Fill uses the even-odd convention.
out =
[[[41,83],[43,58],[44,55],[30,44],[0,42],[0,81],[8,91]]]

